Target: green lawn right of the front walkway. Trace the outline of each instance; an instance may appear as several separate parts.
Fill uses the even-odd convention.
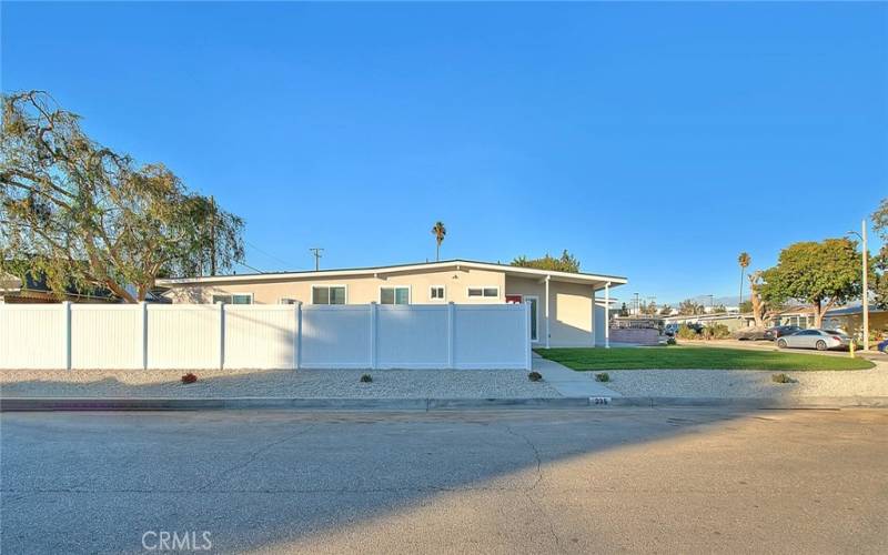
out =
[[[545,359],[574,370],[866,370],[864,359],[698,346],[536,349]]]

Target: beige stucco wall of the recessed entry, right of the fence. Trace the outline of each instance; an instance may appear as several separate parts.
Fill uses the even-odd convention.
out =
[[[546,343],[546,284],[539,279],[506,276],[506,294],[539,297],[539,345]],[[592,346],[592,285],[549,282],[549,346]]]

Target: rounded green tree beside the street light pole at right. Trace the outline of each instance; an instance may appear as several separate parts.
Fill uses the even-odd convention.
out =
[[[761,296],[774,303],[796,300],[814,307],[814,326],[820,327],[833,306],[860,295],[857,242],[827,239],[789,245],[777,265],[763,274]]]

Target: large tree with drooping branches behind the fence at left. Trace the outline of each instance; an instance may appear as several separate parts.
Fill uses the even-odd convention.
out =
[[[44,92],[2,97],[0,273],[143,301],[159,276],[243,259],[243,221],[162,164],[137,167]]]

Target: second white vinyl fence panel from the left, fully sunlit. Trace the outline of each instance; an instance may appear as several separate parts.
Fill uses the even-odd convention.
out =
[[[143,310],[141,304],[72,304],[71,367],[141,369]]]

